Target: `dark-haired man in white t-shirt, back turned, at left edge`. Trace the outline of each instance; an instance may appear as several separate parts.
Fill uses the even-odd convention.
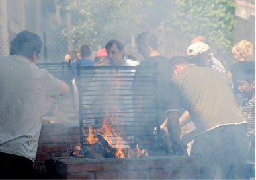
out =
[[[42,41],[26,30],[15,36],[10,56],[0,57],[0,179],[36,179],[33,160],[46,98],[69,93],[63,81],[38,69]]]

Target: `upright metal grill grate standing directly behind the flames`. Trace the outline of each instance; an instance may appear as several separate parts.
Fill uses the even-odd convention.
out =
[[[81,144],[89,125],[99,128],[106,121],[122,137],[111,137],[112,146],[124,143],[128,148],[136,141],[149,154],[157,153],[161,140],[154,67],[77,67],[77,74]]]

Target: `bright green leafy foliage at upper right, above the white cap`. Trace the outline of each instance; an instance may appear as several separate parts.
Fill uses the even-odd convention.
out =
[[[175,0],[167,25],[170,30],[206,36],[220,48],[230,49],[234,42],[235,1]]]

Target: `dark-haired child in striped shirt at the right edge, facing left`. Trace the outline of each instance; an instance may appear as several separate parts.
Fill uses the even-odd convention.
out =
[[[237,75],[237,86],[241,96],[247,99],[240,105],[240,109],[248,122],[247,163],[255,164],[255,69],[240,70]]]

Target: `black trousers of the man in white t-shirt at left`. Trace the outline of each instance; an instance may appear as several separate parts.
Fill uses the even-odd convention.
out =
[[[0,179],[42,179],[32,160],[0,152]]]

